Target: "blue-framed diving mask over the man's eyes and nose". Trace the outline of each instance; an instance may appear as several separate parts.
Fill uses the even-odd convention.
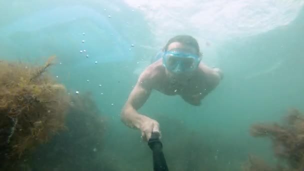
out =
[[[162,55],[162,64],[172,72],[188,72],[197,68],[200,61],[198,55],[176,50],[166,51]]]

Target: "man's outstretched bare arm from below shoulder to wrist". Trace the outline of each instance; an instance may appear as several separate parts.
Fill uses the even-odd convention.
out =
[[[132,128],[140,128],[141,124],[148,118],[137,112],[151,93],[152,88],[150,80],[147,79],[147,74],[144,71],[139,76],[120,114],[122,122]]]

